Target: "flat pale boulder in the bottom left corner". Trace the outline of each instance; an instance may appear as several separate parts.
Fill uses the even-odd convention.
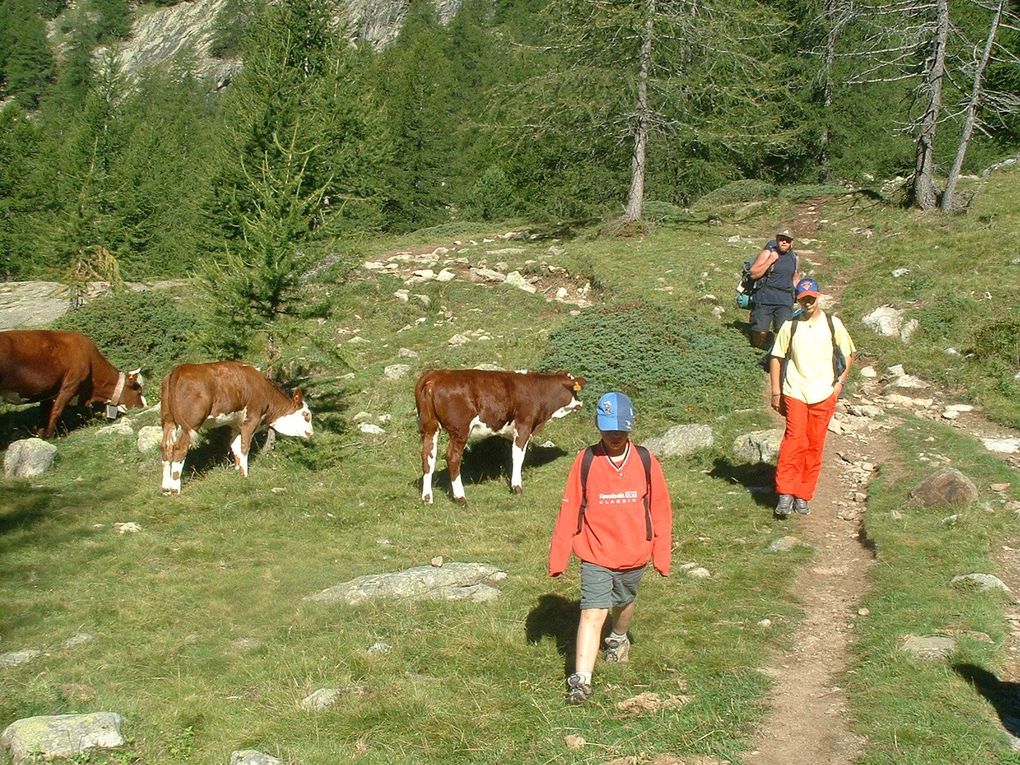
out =
[[[14,765],[33,762],[37,756],[46,760],[76,757],[95,749],[122,747],[123,722],[115,712],[26,717],[0,733],[0,745],[10,751]]]

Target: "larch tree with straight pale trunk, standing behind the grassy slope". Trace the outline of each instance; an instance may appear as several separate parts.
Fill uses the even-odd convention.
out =
[[[524,126],[566,131],[597,161],[625,161],[621,224],[642,219],[653,142],[733,155],[783,142],[770,67],[785,27],[766,5],[554,0],[547,12],[556,70],[518,88]]]

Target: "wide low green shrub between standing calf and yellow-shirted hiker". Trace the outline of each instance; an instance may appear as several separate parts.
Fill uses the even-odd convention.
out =
[[[764,377],[747,339],[666,306],[590,310],[551,333],[541,363],[588,379],[586,397],[621,390],[649,418],[704,421],[757,406]]]

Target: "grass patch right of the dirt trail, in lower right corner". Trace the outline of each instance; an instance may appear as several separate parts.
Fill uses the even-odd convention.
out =
[[[953,428],[912,422],[895,434],[903,462],[887,465],[868,498],[866,530],[877,549],[870,613],[857,621],[857,661],[850,673],[856,727],[868,737],[862,760],[879,763],[1020,763],[989,700],[969,681],[975,670],[997,674],[1009,631],[1001,593],[954,588],[957,575],[996,572],[991,553],[1017,536],[1005,501],[984,489],[1016,477],[1003,462]],[[928,439],[934,439],[934,445]],[[921,456],[937,453],[981,490],[966,509],[922,508],[910,491],[934,471]],[[958,514],[955,523],[947,517]],[[899,650],[907,634],[983,632],[984,643],[957,638],[950,661],[925,661]]]

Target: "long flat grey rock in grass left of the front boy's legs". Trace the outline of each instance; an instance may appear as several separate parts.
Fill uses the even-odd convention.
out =
[[[442,566],[415,566],[403,571],[359,576],[308,596],[305,600],[316,603],[344,601],[349,606],[378,598],[484,603],[499,597],[500,591],[492,584],[505,578],[505,571],[484,563],[444,563]]]

